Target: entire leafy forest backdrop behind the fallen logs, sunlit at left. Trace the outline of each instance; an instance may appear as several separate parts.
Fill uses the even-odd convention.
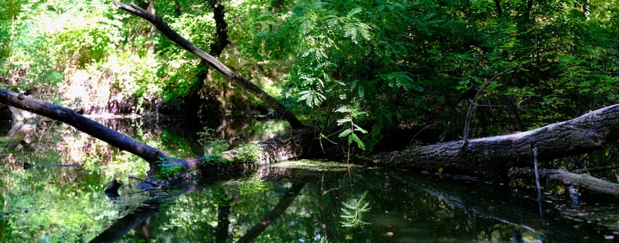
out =
[[[316,137],[360,149],[461,139],[469,106],[469,137],[483,137],[619,101],[616,1],[138,3]],[[6,1],[0,83],[85,114],[163,113],[216,129],[213,117],[270,109],[103,0]]]

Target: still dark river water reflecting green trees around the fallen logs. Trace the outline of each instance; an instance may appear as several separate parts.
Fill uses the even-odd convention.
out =
[[[202,128],[174,119],[104,124],[172,156],[201,153]],[[10,123],[0,123],[0,135]],[[273,121],[221,138],[262,140]],[[217,130],[218,129],[218,130]],[[6,139],[3,140],[6,142]],[[292,161],[236,178],[172,190],[135,190],[147,163],[63,124],[43,120],[17,146],[1,147],[1,242],[614,242],[619,208],[586,194],[572,206],[534,188],[423,174]],[[24,162],[34,167],[24,169]],[[56,166],[56,165],[72,166]],[[76,166],[77,165],[77,166]],[[120,197],[103,191],[113,178]],[[594,200],[595,199],[595,200]],[[517,239],[517,241],[515,241]]]

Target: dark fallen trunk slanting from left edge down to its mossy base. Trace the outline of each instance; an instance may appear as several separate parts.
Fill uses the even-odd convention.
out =
[[[77,130],[87,133],[99,140],[117,147],[118,149],[133,153],[140,158],[146,160],[150,165],[149,177],[156,176],[162,167],[182,166],[188,169],[200,169],[208,171],[208,174],[243,174],[252,171],[256,168],[255,165],[266,165],[272,162],[282,160],[290,160],[298,158],[303,154],[302,147],[304,142],[310,142],[312,131],[310,128],[302,128],[287,135],[274,137],[266,140],[261,144],[257,144],[260,153],[249,161],[246,155],[239,151],[230,151],[223,155],[228,163],[208,162],[204,158],[172,158],[166,153],[154,149],[152,146],[135,140],[132,137],[118,133],[111,128],[99,124],[97,121],[88,119],[83,115],[78,114],[74,110],[62,106],[56,106],[51,103],[46,103],[39,99],[33,99],[24,94],[18,94],[10,90],[0,89],[0,103],[8,106],[28,110],[44,117],[62,121],[65,124],[77,128]],[[253,152],[253,151],[252,151]],[[241,159],[239,159],[241,158]],[[159,163],[159,164],[158,164]],[[153,183],[153,178],[147,178],[141,189],[148,189],[156,185],[169,185],[172,181]]]

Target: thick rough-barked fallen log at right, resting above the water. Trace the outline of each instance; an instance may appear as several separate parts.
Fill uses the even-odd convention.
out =
[[[533,147],[538,148],[540,160],[550,160],[587,153],[618,138],[619,104],[532,131],[469,140],[465,152],[460,151],[462,141],[453,141],[376,154],[368,163],[504,177],[511,167],[532,165]]]

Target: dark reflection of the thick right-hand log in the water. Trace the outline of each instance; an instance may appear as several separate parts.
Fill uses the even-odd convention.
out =
[[[476,190],[471,190],[473,185],[467,187],[463,183],[444,179],[411,176],[402,171],[392,171],[391,174],[400,183],[423,190],[477,217],[512,224],[516,229],[525,228],[552,241],[574,242],[577,239],[586,240],[583,237],[591,235],[600,236],[600,239],[588,240],[604,240],[604,234],[600,233],[603,229],[596,228],[594,224],[582,224],[579,219],[569,220],[569,212],[563,212],[561,208],[545,206],[545,216],[540,217],[538,202],[513,196],[510,187],[488,187],[482,183],[477,185]],[[606,231],[611,230],[606,228]]]

